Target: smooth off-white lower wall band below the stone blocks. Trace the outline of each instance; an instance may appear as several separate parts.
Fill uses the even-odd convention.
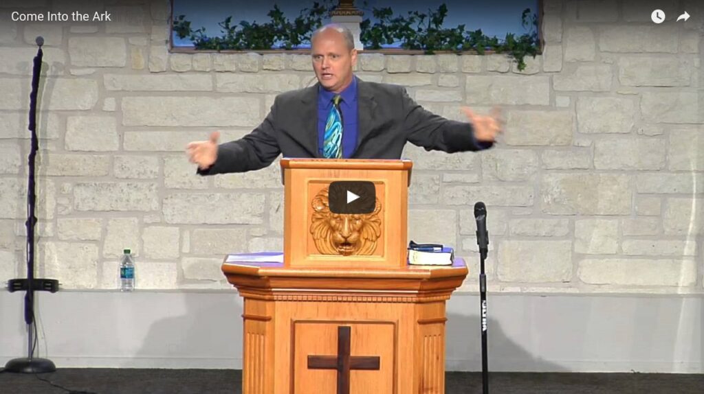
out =
[[[39,356],[58,367],[241,369],[233,291],[37,294]],[[27,355],[23,295],[0,293],[0,366]],[[446,369],[481,369],[479,301],[448,301]],[[489,296],[489,369],[704,373],[704,296]],[[43,333],[42,333],[43,331]]]

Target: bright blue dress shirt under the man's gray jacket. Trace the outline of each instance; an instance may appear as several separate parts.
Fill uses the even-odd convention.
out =
[[[342,158],[349,159],[357,149],[357,78],[352,77],[352,83],[341,91],[342,101]],[[318,155],[323,157],[322,148],[325,136],[325,123],[332,109],[332,98],[335,93],[318,88]]]

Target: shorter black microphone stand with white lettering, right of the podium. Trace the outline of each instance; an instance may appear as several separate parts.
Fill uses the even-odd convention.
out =
[[[479,302],[482,311],[482,393],[489,394],[489,360],[487,357],[486,329],[486,273],[484,261],[489,253],[489,231],[486,230],[486,206],[483,202],[474,204],[474,217],[477,219],[477,245],[479,245]]]

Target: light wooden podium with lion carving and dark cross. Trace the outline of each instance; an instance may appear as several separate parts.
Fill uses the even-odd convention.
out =
[[[467,267],[407,265],[411,165],[282,159],[283,256],[222,264],[244,297],[244,394],[444,393],[445,301]],[[360,180],[370,211],[331,211],[331,183]]]

